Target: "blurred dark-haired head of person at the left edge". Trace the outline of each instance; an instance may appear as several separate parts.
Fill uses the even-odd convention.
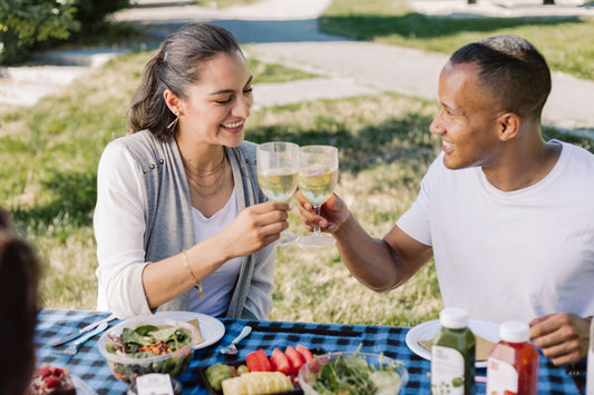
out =
[[[35,369],[39,260],[0,208],[0,394],[23,394]]]

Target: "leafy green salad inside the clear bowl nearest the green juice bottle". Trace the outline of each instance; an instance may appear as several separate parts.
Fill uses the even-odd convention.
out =
[[[322,365],[315,378],[314,389],[320,395],[372,395],[397,394],[401,378],[398,367],[401,363],[381,363],[373,365],[358,356],[359,348],[353,355],[339,355],[334,361]],[[318,358],[317,356],[314,356]],[[319,361],[319,359],[318,359]],[[320,361],[319,361],[320,362]],[[320,362],[320,364],[322,364]]]

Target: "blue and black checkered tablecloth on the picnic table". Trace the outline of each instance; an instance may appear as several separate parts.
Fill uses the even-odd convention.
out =
[[[36,334],[37,364],[49,363],[64,366],[70,374],[80,377],[97,394],[126,394],[127,385],[116,379],[109,371],[106,361],[97,349],[95,336],[79,347],[77,355],[67,357],[59,355],[47,344],[76,332],[90,323],[107,317],[108,313],[42,309]],[[251,352],[263,348],[271,355],[274,347],[284,349],[286,346],[301,344],[310,349],[325,352],[356,350],[362,344],[361,352],[383,353],[400,359],[409,373],[409,382],[401,394],[430,394],[429,371],[430,363],[412,353],[405,343],[409,328],[372,325],[338,325],[286,322],[256,322],[245,319],[221,319],[225,325],[224,337],[214,345],[194,352],[192,363],[181,377],[184,395],[207,395],[202,387],[198,376],[201,367],[217,362],[236,362],[245,359]],[[110,325],[116,325],[111,322]],[[252,326],[252,334],[238,345],[238,355],[227,357],[218,353],[222,345],[231,343],[244,325]],[[485,369],[477,374],[486,375]],[[477,394],[485,394],[485,385],[478,384]],[[564,368],[554,367],[545,357],[541,357],[539,394],[578,394],[572,377]]]

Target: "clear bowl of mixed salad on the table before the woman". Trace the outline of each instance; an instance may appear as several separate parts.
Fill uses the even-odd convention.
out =
[[[191,324],[147,315],[126,319],[108,329],[97,346],[114,376],[130,384],[149,373],[179,377],[192,361],[198,336]]]

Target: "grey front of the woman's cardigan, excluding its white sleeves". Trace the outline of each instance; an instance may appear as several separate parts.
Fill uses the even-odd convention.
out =
[[[194,246],[189,189],[176,140],[160,142],[144,130],[111,144],[125,145],[144,175],[145,261],[158,261]],[[256,145],[247,141],[237,148],[226,147],[240,211],[266,200],[257,184],[255,149]],[[226,317],[266,318],[272,309],[275,258],[276,244],[243,258]],[[189,295],[191,290],[157,310],[187,310]]]

